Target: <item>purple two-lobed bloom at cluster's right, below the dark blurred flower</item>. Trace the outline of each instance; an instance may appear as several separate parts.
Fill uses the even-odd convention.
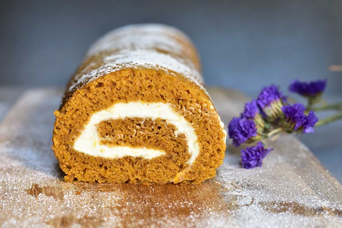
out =
[[[288,121],[294,123],[293,130],[303,128],[303,133],[314,132],[314,126],[318,121],[315,113],[311,110],[307,116],[304,115],[305,107],[302,104],[286,105],[281,108]]]

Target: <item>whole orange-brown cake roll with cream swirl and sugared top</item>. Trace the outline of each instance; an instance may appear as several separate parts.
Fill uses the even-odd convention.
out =
[[[197,51],[170,26],[124,26],[95,42],[54,114],[66,181],[199,184],[223,162],[226,132]]]

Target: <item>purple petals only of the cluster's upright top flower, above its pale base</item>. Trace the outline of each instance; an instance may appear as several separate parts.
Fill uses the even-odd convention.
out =
[[[259,96],[257,103],[258,105],[264,109],[265,107],[269,107],[273,102],[282,101],[285,103],[287,100],[286,96],[282,94],[275,85],[265,86]]]

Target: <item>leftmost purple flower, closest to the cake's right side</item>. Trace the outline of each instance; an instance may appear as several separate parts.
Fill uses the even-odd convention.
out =
[[[240,146],[249,138],[257,136],[257,129],[252,120],[234,117],[228,125],[228,135],[233,139],[234,146]]]

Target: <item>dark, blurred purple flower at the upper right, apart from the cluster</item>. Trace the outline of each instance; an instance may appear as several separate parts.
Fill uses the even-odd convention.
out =
[[[289,86],[289,91],[304,96],[315,96],[324,91],[327,80],[318,80],[312,82],[293,81]]]

